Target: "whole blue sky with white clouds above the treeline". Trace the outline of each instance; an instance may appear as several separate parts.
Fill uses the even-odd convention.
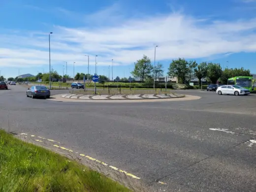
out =
[[[0,73],[48,72],[50,32],[61,75],[87,73],[89,55],[89,73],[112,79],[113,60],[114,78],[128,77],[155,48],[165,75],[179,57],[256,73],[255,13],[256,0],[1,0]]]

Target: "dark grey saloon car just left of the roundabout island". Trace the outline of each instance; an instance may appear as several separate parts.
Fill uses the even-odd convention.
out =
[[[51,92],[45,86],[32,86],[26,92],[26,96],[30,96],[31,98],[35,97],[45,97],[50,98]]]

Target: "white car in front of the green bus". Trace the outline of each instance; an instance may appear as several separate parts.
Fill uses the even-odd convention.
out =
[[[250,91],[248,89],[244,89],[237,85],[224,85],[224,86],[218,87],[218,89],[216,90],[216,93],[218,95],[246,96],[250,94]]]

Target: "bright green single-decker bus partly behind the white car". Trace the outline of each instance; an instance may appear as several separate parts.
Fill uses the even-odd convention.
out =
[[[238,85],[250,90],[250,92],[254,90],[253,77],[251,76],[237,76],[229,78],[227,79],[227,85]]]

